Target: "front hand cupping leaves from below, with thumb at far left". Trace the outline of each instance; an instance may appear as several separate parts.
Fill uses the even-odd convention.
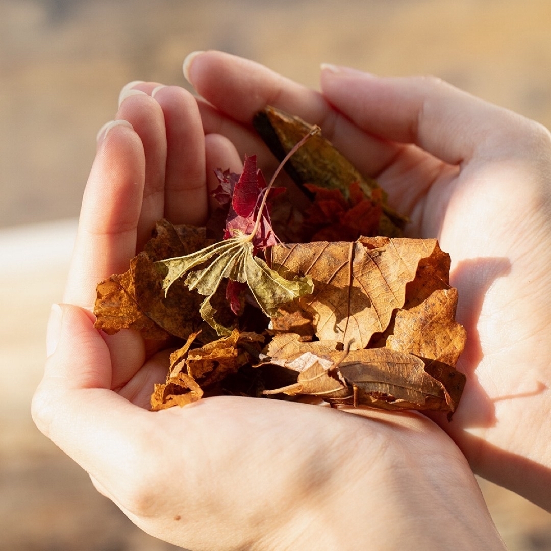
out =
[[[209,166],[239,170],[228,141],[203,138],[189,94],[155,88],[127,90],[100,132],[39,428],[133,522],[186,548],[503,549],[461,452],[422,415],[222,396],[147,410],[167,352],[97,331],[95,285],[125,271],[156,219],[204,221]]]

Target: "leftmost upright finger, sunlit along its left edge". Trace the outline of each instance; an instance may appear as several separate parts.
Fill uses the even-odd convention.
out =
[[[128,122],[112,121],[99,134],[64,301],[91,309],[98,282],[126,271],[136,254],[144,181],[141,139]]]

